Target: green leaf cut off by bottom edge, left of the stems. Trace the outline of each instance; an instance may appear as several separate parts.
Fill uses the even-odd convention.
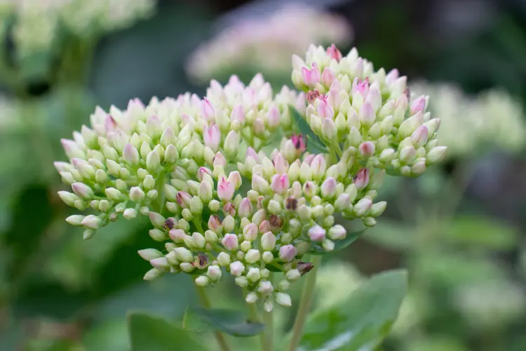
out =
[[[128,314],[131,351],[195,351],[204,350],[187,331],[149,314]]]

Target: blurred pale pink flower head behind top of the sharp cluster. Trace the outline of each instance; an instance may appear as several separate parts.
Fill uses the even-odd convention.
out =
[[[240,68],[267,76],[288,75],[292,54],[304,53],[310,44],[345,46],[352,39],[351,25],[344,18],[290,4],[259,20],[248,18],[224,29],[190,55],[187,73],[201,82]]]

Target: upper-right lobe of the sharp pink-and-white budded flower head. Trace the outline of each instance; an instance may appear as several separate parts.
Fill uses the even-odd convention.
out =
[[[398,70],[375,72],[355,48],[344,57],[335,46],[311,46],[306,60],[292,61],[292,81],[309,91],[306,120],[325,145],[344,155],[345,172],[359,176],[365,166],[419,176],[445,157],[436,139],[440,119],[426,112],[429,98],[410,100],[407,77]]]

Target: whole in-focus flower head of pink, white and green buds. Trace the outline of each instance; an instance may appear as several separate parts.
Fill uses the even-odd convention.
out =
[[[247,303],[289,306],[290,284],[313,267],[304,255],[346,238],[335,213],[375,225],[386,169],[417,176],[445,152],[438,120],[426,98],[408,101],[405,77],[372,72],[355,50],[342,58],[334,46],[311,48],[295,67],[306,94],[274,95],[257,74],[248,86],[235,76],[212,81],[203,99],[97,107],[91,127],[62,140],[69,161],[55,163],[73,191],[59,192],[62,200],[97,214],[67,221],[87,239],[120,216],[149,216],[151,238],[167,242],[163,252],[139,251],[152,266],[144,279],[185,272],[208,286],[229,273]],[[318,141],[298,133],[294,110]],[[326,152],[306,152],[311,141]],[[272,271],[283,279],[273,284]]]

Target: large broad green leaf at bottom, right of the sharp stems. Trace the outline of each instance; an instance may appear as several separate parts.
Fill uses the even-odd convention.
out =
[[[315,312],[298,351],[376,350],[395,322],[406,290],[405,270],[375,275],[348,300]]]

